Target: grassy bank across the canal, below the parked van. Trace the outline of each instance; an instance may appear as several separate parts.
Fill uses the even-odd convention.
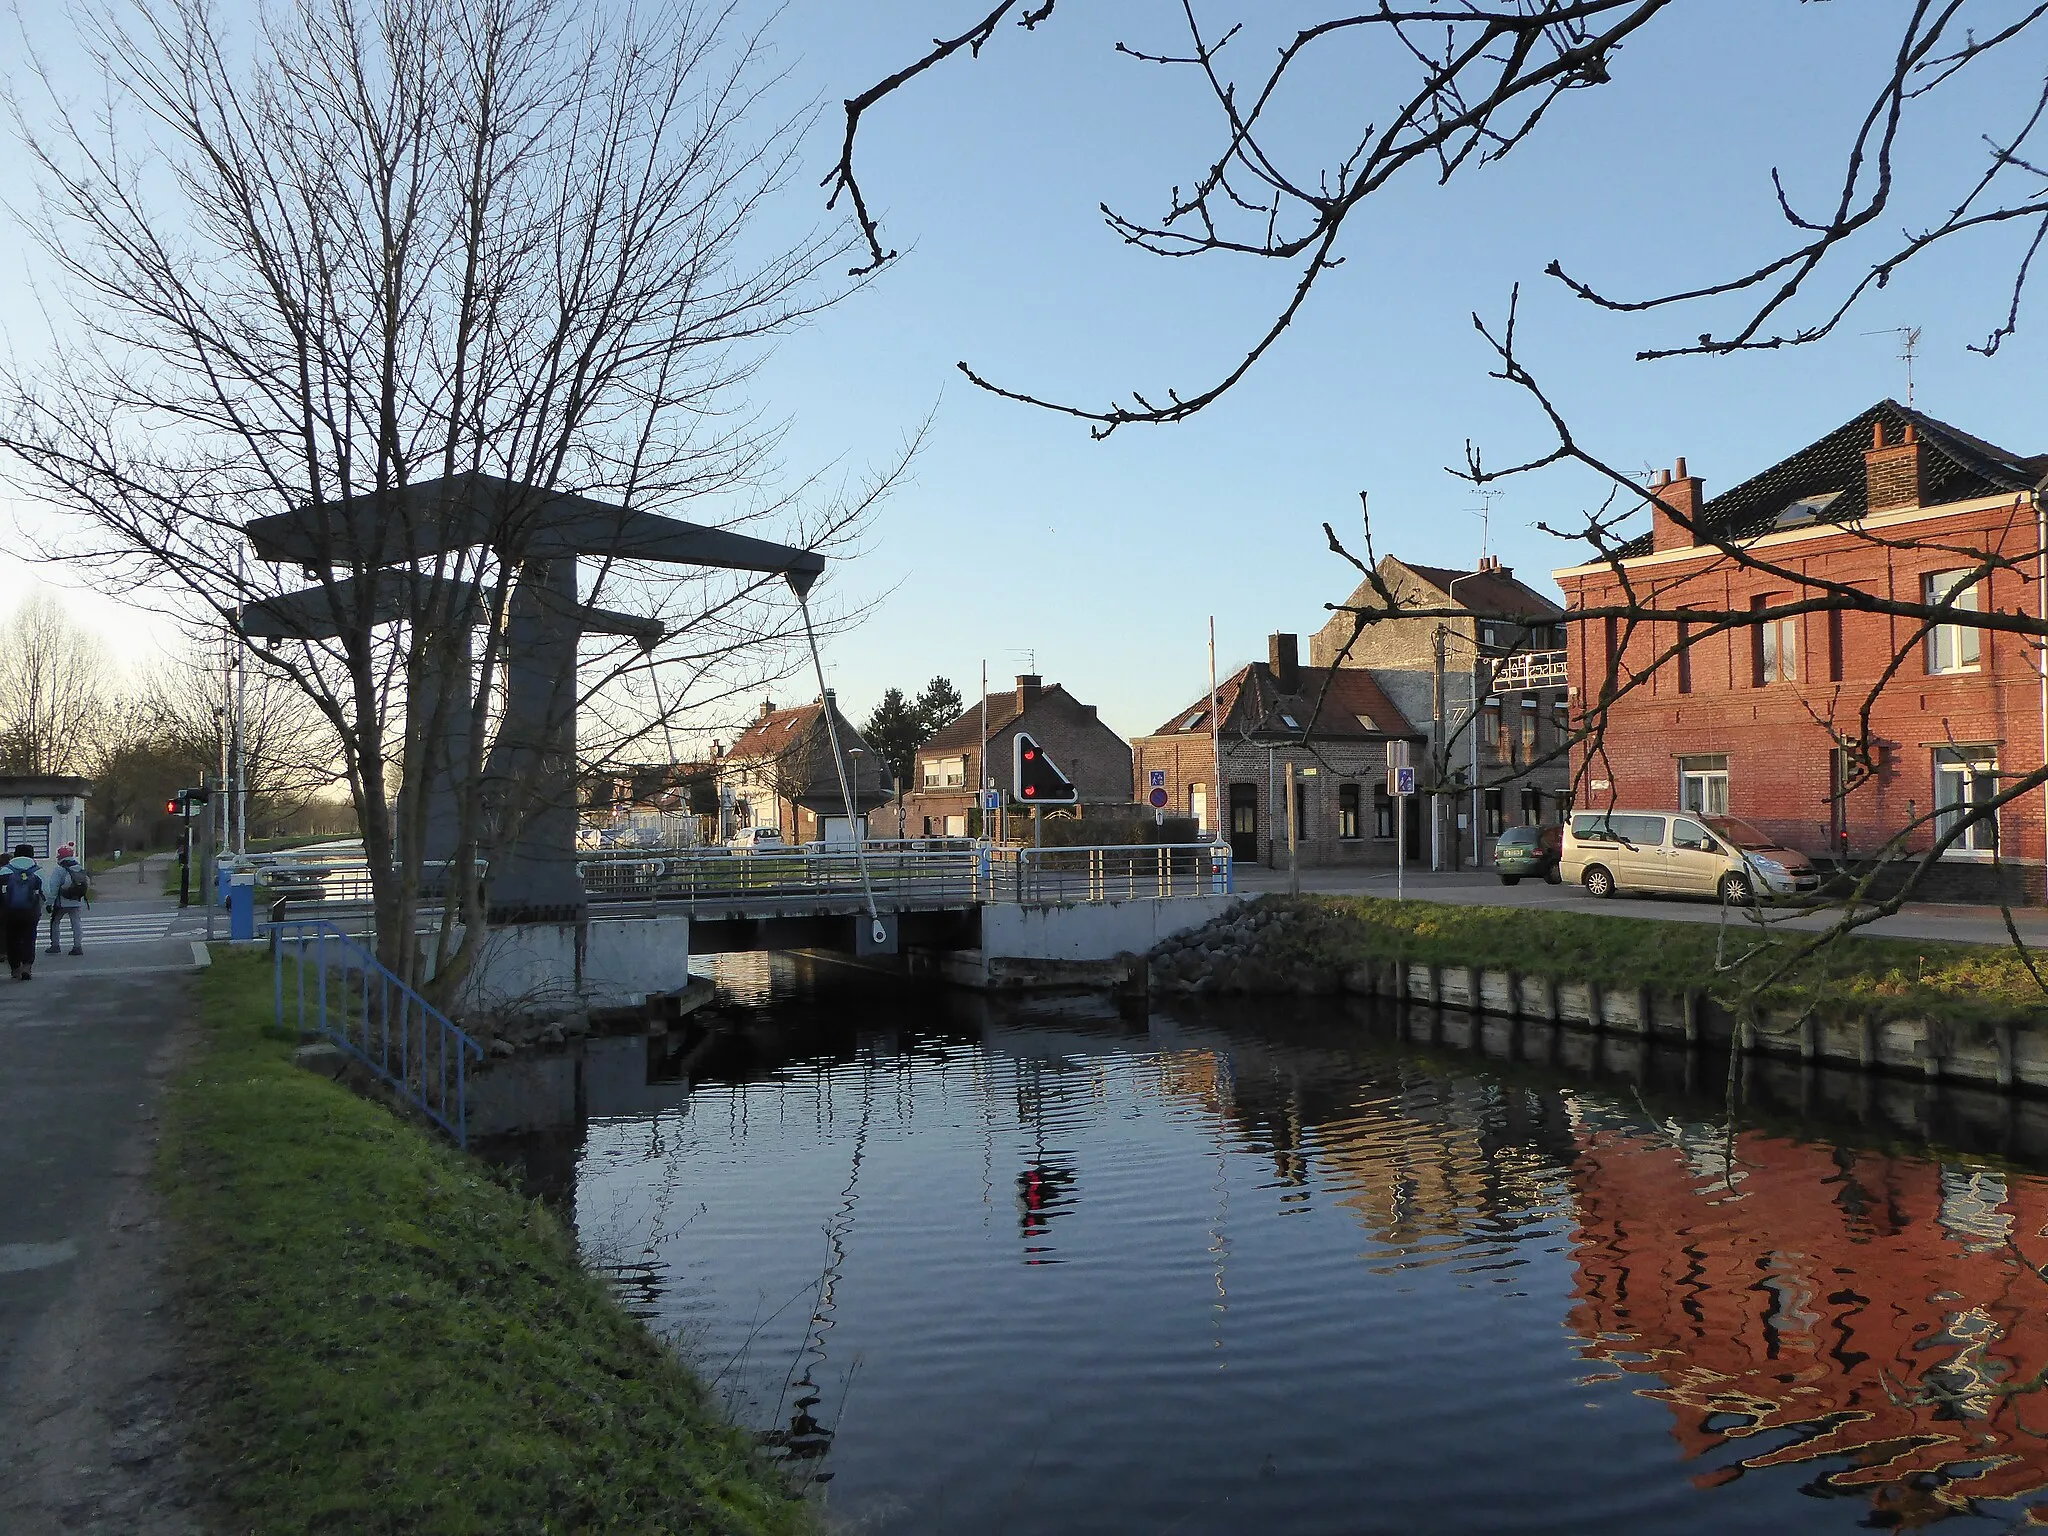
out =
[[[1479,965],[1546,975],[1559,981],[1647,985],[1659,991],[1706,991],[1726,1004],[1812,936],[1759,936],[1743,918],[1729,920],[1716,963],[1716,930],[1645,918],[1604,918],[1526,907],[1452,907],[1376,897],[1268,897],[1292,909],[1266,944],[1288,950],[1286,963],[1343,969],[1364,958],[1427,965]],[[1264,903],[1262,903],[1264,905]],[[1739,965],[1729,961],[1741,958]],[[2048,973],[2048,956],[2042,956]],[[1759,1001],[1774,1008],[1819,1006],[1872,1018],[2048,1022],[2048,999],[2011,946],[1933,944],[1894,938],[1843,938],[1808,956]]]

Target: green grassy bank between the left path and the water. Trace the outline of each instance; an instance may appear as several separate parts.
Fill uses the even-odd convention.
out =
[[[201,999],[160,1174],[236,1530],[811,1528],[561,1223],[291,1065],[260,961],[217,958]]]

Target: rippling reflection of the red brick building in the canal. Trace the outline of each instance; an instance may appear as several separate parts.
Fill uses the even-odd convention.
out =
[[[1655,1378],[1702,1477],[1815,1462],[1894,1528],[2048,1487],[2048,1182],[1640,1128],[1581,1135],[1571,1327]],[[1931,1395],[1950,1401],[1929,1401]],[[1747,1452],[1747,1454],[1745,1454]]]

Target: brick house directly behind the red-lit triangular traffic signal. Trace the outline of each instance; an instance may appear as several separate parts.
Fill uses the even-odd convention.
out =
[[[1008,803],[1010,745],[1018,731],[1034,737],[1079,791],[1083,817],[1090,805],[1130,805],[1130,743],[1102,723],[1094,705],[1083,705],[1057,682],[1047,684],[1036,672],[1022,674],[1014,688],[983,702],[987,766],[981,760],[983,705],[969,705],[918,748],[903,795],[905,838],[969,836],[979,827],[973,819],[979,786],[1004,791]]]

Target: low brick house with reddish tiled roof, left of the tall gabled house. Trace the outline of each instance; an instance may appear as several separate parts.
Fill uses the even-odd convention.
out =
[[[1139,799],[1165,788],[1171,809],[1208,836],[1229,838],[1235,858],[1286,862],[1286,776],[1296,774],[1296,858],[1315,864],[1393,864],[1395,797],[1386,768],[1395,743],[1421,758],[1423,731],[1409,723],[1372,670],[1300,666],[1294,635],[1272,635],[1266,659],[1239,668],[1151,735],[1130,743]],[[1219,725],[1221,721],[1221,725]],[[1221,758],[1221,774],[1219,774]],[[1212,795],[1212,784],[1225,784]],[[1421,844],[1421,797],[1407,801],[1407,858]]]

